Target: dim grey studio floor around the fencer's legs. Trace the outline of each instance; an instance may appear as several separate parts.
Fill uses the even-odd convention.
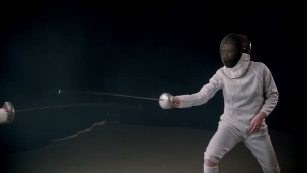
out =
[[[31,151],[8,155],[6,172],[203,172],[203,152],[215,131],[106,121]],[[294,172],[296,142],[269,129],[282,172]],[[219,163],[220,172],[262,172],[242,144]]]

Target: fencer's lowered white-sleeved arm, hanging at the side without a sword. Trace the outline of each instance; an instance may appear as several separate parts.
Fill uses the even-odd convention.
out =
[[[277,90],[277,86],[275,84],[273,76],[266,65],[264,65],[263,79],[264,79],[263,81],[264,81],[265,103],[260,111],[265,113],[266,117],[268,117],[268,115],[273,111],[273,109],[277,105],[279,92]]]

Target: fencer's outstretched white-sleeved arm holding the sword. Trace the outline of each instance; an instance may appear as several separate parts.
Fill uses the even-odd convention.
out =
[[[175,99],[180,102],[177,108],[188,108],[206,103],[222,88],[223,84],[222,71],[218,70],[198,93],[175,96]]]

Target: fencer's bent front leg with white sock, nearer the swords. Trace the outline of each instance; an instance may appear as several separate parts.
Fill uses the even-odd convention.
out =
[[[218,173],[218,163],[237,143],[243,139],[243,134],[233,126],[220,122],[217,132],[211,138],[204,152],[204,173]]]

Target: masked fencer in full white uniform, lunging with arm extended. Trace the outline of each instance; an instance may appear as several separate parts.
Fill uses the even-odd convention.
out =
[[[245,35],[226,35],[220,45],[224,66],[198,93],[172,96],[179,102],[172,108],[188,108],[202,105],[223,91],[224,112],[204,152],[204,173],[217,173],[219,161],[239,142],[250,149],[265,173],[280,172],[265,123],[279,93],[269,68],[250,60],[250,49]]]

